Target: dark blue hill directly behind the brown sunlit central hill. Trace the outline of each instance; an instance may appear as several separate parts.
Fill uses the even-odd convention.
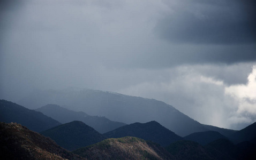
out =
[[[114,131],[104,133],[103,135],[108,138],[121,138],[126,136],[138,137],[159,143],[161,146],[167,146],[172,142],[183,139],[155,121],[125,125]]]

